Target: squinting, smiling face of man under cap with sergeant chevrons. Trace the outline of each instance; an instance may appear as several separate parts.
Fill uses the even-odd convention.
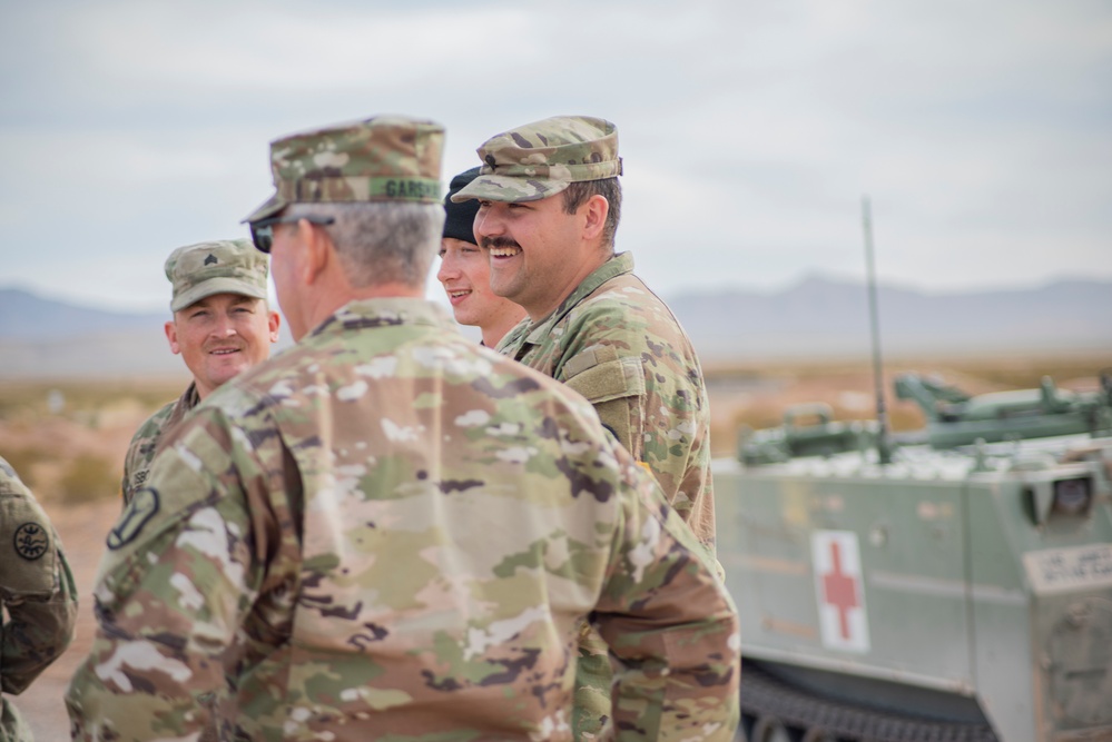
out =
[[[214,294],[166,323],[170,350],[180,354],[204,398],[236,374],[270,355],[278,339],[278,313],[262,299]]]

